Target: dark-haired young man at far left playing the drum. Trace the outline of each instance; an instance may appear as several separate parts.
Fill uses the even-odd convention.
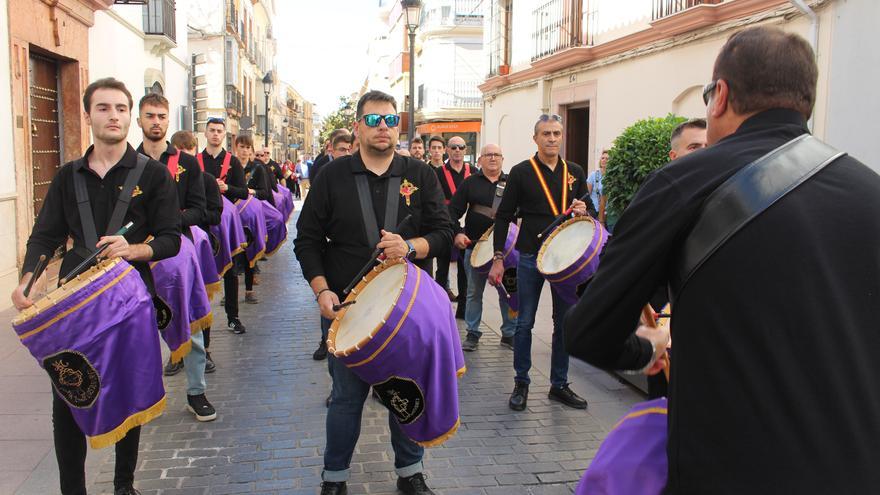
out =
[[[135,169],[138,154],[125,141],[131,124],[131,94],[121,82],[99,79],[90,84],[83,96],[86,123],[91,127],[95,144],[82,159],[65,164],[52,179],[43,208],[37,216],[27,243],[21,284],[12,293],[12,302],[22,310],[33,305],[24,296],[24,288],[33,276],[40,255],[51,258],[68,237],[74,249],[68,250],[61,262],[61,276],[78,265],[96,247],[107,245],[105,258],[121,257],[138,270],[151,293],[153,278],[149,261],[158,261],[177,254],[180,249],[180,208],[174,182],[161,163],[147,162],[137,182],[135,194],[125,213],[123,224],[134,225],[124,236],[105,235],[95,245],[86,242],[77,208],[74,174],[80,174],[88,190],[95,230],[106,232],[125,179]],[[153,236],[145,242],[148,236]],[[156,329],[158,332],[158,328]],[[137,365],[137,363],[132,363]],[[52,424],[55,455],[63,495],[85,494],[85,435],[77,426],[67,404],[52,394]],[[140,427],[129,430],[116,443],[116,471],[113,485],[116,495],[132,495],[137,491],[134,470],[137,464]]]

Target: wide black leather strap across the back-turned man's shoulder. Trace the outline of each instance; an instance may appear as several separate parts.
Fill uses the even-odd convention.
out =
[[[799,136],[743,167],[713,191],[682,246],[670,294],[746,224],[845,153],[809,134]]]

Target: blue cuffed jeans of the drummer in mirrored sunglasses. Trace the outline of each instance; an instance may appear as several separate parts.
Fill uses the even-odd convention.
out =
[[[351,456],[361,434],[364,401],[370,395],[370,384],[358,378],[333,355],[327,358],[333,391],[327,410],[327,447],[324,449],[324,481],[348,481]],[[400,429],[397,419],[388,413],[394,467],[398,476],[406,478],[422,472],[425,449],[410,440]]]

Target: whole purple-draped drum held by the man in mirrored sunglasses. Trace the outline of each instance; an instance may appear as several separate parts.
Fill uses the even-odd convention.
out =
[[[466,371],[446,291],[408,261],[375,267],[349,294],[327,347],[371,384],[401,429],[431,447],[459,426],[458,377]]]

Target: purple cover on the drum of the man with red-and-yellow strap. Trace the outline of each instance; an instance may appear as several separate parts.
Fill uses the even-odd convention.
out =
[[[565,246],[576,248],[583,246],[583,250],[574,263],[571,263],[569,266],[556,273],[546,273],[542,269],[542,261],[544,256],[546,256],[549,247],[553,245],[553,240],[556,239],[556,236],[565,229],[578,222],[592,222],[593,237],[591,239],[583,239],[583,243],[578,244],[577,246],[571,246],[570,244]],[[589,280],[599,268],[599,254],[602,252],[602,248],[607,241],[608,231],[605,230],[605,227],[594,218],[583,216],[566,220],[553,230],[553,232],[551,232],[544,240],[544,244],[541,246],[540,251],[538,251],[538,271],[548,282],[550,282],[550,287],[557,295],[559,295],[559,297],[562,298],[563,301],[568,304],[575,304],[579,298],[578,287]],[[558,245],[559,243],[557,243],[557,246]],[[554,248],[558,248],[557,246],[554,246]]]

